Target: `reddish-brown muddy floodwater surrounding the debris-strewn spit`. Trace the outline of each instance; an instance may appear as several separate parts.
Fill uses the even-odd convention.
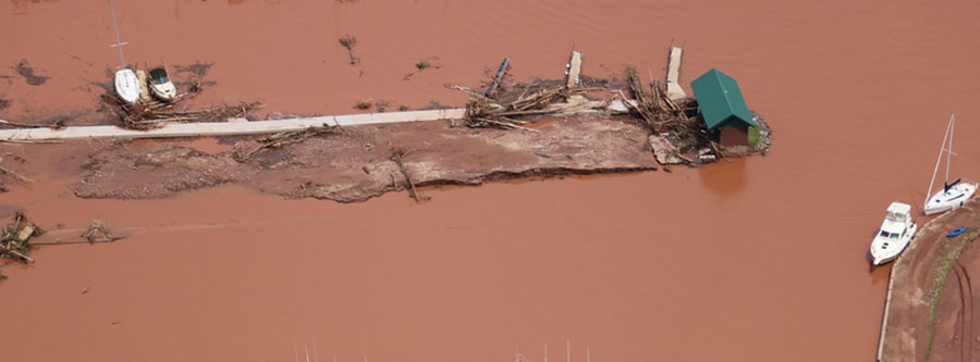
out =
[[[0,9],[0,118],[105,122],[94,110],[118,65],[107,4]],[[316,346],[321,361],[505,361],[515,348],[540,361],[546,345],[560,359],[571,340],[575,360],[588,348],[597,361],[867,361],[889,273],[869,274],[868,244],[889,202],[921,203],[953,109],[954,173],[980,178],[977,3],[115,9],[128,61],[211,82],[194,105],[261,100],[272,115],[348,113],[362,98],[462,105],[443,84],[477,87],[503,57],[518,80],[560,77],[573,43],[586,75],[633,63],[659,76],[676,36],[685,87],[711,67],[737,78],[775,148],[670,174],[425,190],[432,200],[421,204],[404,194],[284,200],[238,186],[88,200],[70,191],[84,160],[4,155],[38,183],[8,182],[0,210],[62,224],[52,237],[91,219],[132,235],[40,248],[36,264],[4,267],[4,360],[287,361],[294,346]],[[346,36],[357,39],[354,65],[338,42]],[[437,66],[418,71],[419,61]]]

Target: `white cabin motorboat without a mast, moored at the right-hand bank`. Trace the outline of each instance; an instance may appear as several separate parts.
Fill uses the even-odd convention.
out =
[[[881,265],[898,258],[917,229],[918,226],[911,220],[911,207],[892,202],[881,228],[871,241],[871,265]]]

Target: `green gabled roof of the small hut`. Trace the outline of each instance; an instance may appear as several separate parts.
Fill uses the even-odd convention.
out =
[[[695,92],[705,124],[709,129],[715,127],[755,126],[745,98],[738,90],[738,82],[716,68],[711,68],[690,83]]]

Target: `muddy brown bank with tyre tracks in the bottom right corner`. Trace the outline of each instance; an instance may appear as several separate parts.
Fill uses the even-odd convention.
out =
[[[947,237],[961,226],[967,232]],[[970,275],[980,272],[980,199],[926,223],[892,270],[880,361],[972,361],[980,355]],[[980,333],[980,330],[978,330]]]

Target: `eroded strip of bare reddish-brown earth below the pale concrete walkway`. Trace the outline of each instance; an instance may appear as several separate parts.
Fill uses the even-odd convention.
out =
[[[82,198],[154,199],[222,184],[289,198],[359,202],[415,186],[478,185],[531,175],[657,170],[648,132],[591,114],[542,120],[539,132],[453,127],[449,122],[344,127],[279,148],[254,137],[203,152],[156,140],[91,142]],[[404,173],[392,161],[401,151]],[[408,177],[406,177],[406,174]]]

